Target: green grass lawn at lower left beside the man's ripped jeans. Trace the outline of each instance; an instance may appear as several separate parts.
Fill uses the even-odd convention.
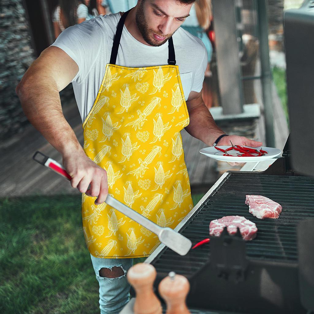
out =
[[[80,196],[2,199],[0,217],[1,314],[99,313]]]

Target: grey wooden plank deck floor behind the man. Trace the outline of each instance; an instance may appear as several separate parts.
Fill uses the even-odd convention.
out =
[[[281,107],[277,91],[273,86],[273,114],[276,147],[283,148],[288,137],[288,127]],[[256,94],[259,103],[262,103],[260,84],[256,82]],[[73,100],[64,108],[64,116],[74,129],[78,140],[83,144],[82,122]],[[257,123],[257,139],[265,141],[265,127],[262,106],[262,116]],[[199,153],[206,145],[193,138],[184,129],[181,132],[185,162],[190,177],[192,193],[205,193],[218,179],[216,163]],[[51,158],[62,162],[60,154],[41,134],[31,125],[9,142],[0,145],[3,152],[0,155],[2,169],[0,171],[0,197],[42,194],[80,194],[73,189],[69,182],[53,171],[37,164],[33,154],[39,150]],[[226,170],[228,170],[226,168]]]

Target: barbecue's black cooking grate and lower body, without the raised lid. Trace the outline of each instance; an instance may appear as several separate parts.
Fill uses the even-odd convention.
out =
[[[314,219],[314,178],[282,169],[289,165],[288,142],[284,155],[262,173],[226,172],[176,228],[195,244],[208,237],[211,220],[239,215],[257,225],[257,237],[243,241],[240,234],[224,232],[180,258],[159,247],[147,259],[157,270],[156,291],[160,280],[175,271],[190,281],[191,308],[219,313],[307,312],[300,298],[297,229],[299,222]],[[261,220],[250,214],[246,194],[281,204],[279,219]]]

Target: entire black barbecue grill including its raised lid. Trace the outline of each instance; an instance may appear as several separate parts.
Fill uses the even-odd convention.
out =
[[[157,270],[156,293],[170,271],[187,277],[191,313],[314,312],[314,178],[310,176],[314,164],[313,148],[308,150],[314,134],[314,101],[308,91],[314,82],[314,37],[309,36],[313,30],[314,1],[285,14],[292,131],[283,156],[264,172],[226,172],[176,227],[195,244],[208,238],[211,220],[239,215],[257,225],[257,237],[243,241],[239,231],[229,236],[224,230],[186,256],[159,246],[146,260]],[[281,204],[279,219],[260,220],[249,214],[246,194]]]

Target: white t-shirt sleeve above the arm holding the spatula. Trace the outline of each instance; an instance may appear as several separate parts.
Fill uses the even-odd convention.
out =
[[[51,46],[59,47],[76,62],[78,73],[72,82],[80,84],[97,60],[103,41],[104,33],[89,20],[65,29]]]

